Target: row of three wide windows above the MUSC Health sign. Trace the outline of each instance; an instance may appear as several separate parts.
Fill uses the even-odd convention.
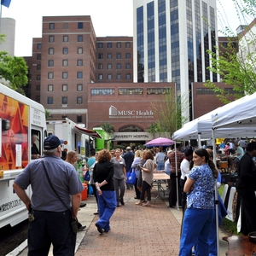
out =
[[[148,95],[158,95],[158,94],[167,94],[169,93],[169,88],[147,88]],[[115,90],[113,88],[104,88],[104,89],[90,89],[90,95],[102,95],[108,96],[113,95]],[[143,88],[119,88],[118,89],[119,95],[142,95]]]

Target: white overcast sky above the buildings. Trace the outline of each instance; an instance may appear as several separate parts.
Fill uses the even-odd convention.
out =
[[[32,55],[32,38],[42,37],[43,16],[90,15],[97,37],[133,36],[132,0],[12,0],[2,17],[16,20],[15,55]],[[233,30],[240,25],[232,0],[222,1]],[[227,22],[223,15],[225,22]]]

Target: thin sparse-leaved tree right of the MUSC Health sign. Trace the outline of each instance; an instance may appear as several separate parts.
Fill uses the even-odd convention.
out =
[[[182,127],[185,119],[182,113],[184,104],[187,100],[184,97],[176,97],[171,88],[166,88],[166,93],[158,102],[152,102],[151,106],[154,111],[155,123],[148,126],[148,132],[158,133],[160,136],[172,138],[174,131]]]

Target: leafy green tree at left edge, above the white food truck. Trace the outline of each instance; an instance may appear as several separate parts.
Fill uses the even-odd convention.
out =
[[[5,79],[4,85],[24,95],[23,86],[27,84],[27,66],[23,57],[15,57],[7,51],[0,51],[0,79]]]

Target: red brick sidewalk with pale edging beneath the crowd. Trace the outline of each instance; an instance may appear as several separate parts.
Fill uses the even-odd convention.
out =
[[[87,201],[84,201],[86,207],[80,208],[79,211],[79,222],[87,227],[78,233],[75,255],[177,256],[182,210],[168,208],[167,195],[165,201],[158,198],[154,204],[156,195],[157,191],[152,189],[152,207],[140,207],[135,205],[137,200],[134,199],[134,190],[126,190],[125,206],[116,209],[110,220],[111,230],[102,235],[95,226],[98,218],[93,214],[96,212],[96,200],[89,195]],[[220,231],[220,256],[224,256],[228,250],[227,242],[222,241],[223,236],[227,234]],[[27,248],[16,250],[8,255],[27,255]]]

